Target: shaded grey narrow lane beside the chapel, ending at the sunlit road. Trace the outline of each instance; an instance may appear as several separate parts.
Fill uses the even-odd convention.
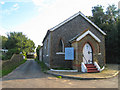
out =
[[[4,80],[13,79],[31,79],[45,77],[45,74],[41,72],[40,65],[34,60],[27,60],[24,64],[14,70],[12,73],[3,77]]]

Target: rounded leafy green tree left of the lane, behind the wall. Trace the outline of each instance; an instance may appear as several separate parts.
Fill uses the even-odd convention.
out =
[[[14,53],[34,52],[34,42],[23,35],[22,32],[10,32],[7,36],[2,36],[2,48],[8,49],[6,57],[10,58]]]

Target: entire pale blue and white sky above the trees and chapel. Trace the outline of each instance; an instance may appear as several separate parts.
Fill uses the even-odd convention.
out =
[[[10,2],[11,1],[11,2]],[[42,45],[48,29],[81,11],[91,16],[93,6],[118,6],[120,0],[0,0],[0,35],[23,32]]]

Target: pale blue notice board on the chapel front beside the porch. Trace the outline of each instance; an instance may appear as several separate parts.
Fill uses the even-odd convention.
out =
[[[73,47],[65,48],[65,60],[74,60],[74,48]]]

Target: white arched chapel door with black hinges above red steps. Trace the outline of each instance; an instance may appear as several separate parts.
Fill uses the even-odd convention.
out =
[[[85,64],[92,64],[93,51],[89,43],[86,43],[83,47],[83,62]]]

